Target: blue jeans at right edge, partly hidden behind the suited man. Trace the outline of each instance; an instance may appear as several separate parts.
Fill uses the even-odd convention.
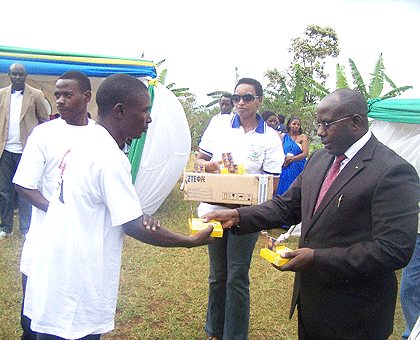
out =
[[[410,263],[402,271],[400,300],[407,324],[402,338],[408,339],[420,315],[420,234]]]

